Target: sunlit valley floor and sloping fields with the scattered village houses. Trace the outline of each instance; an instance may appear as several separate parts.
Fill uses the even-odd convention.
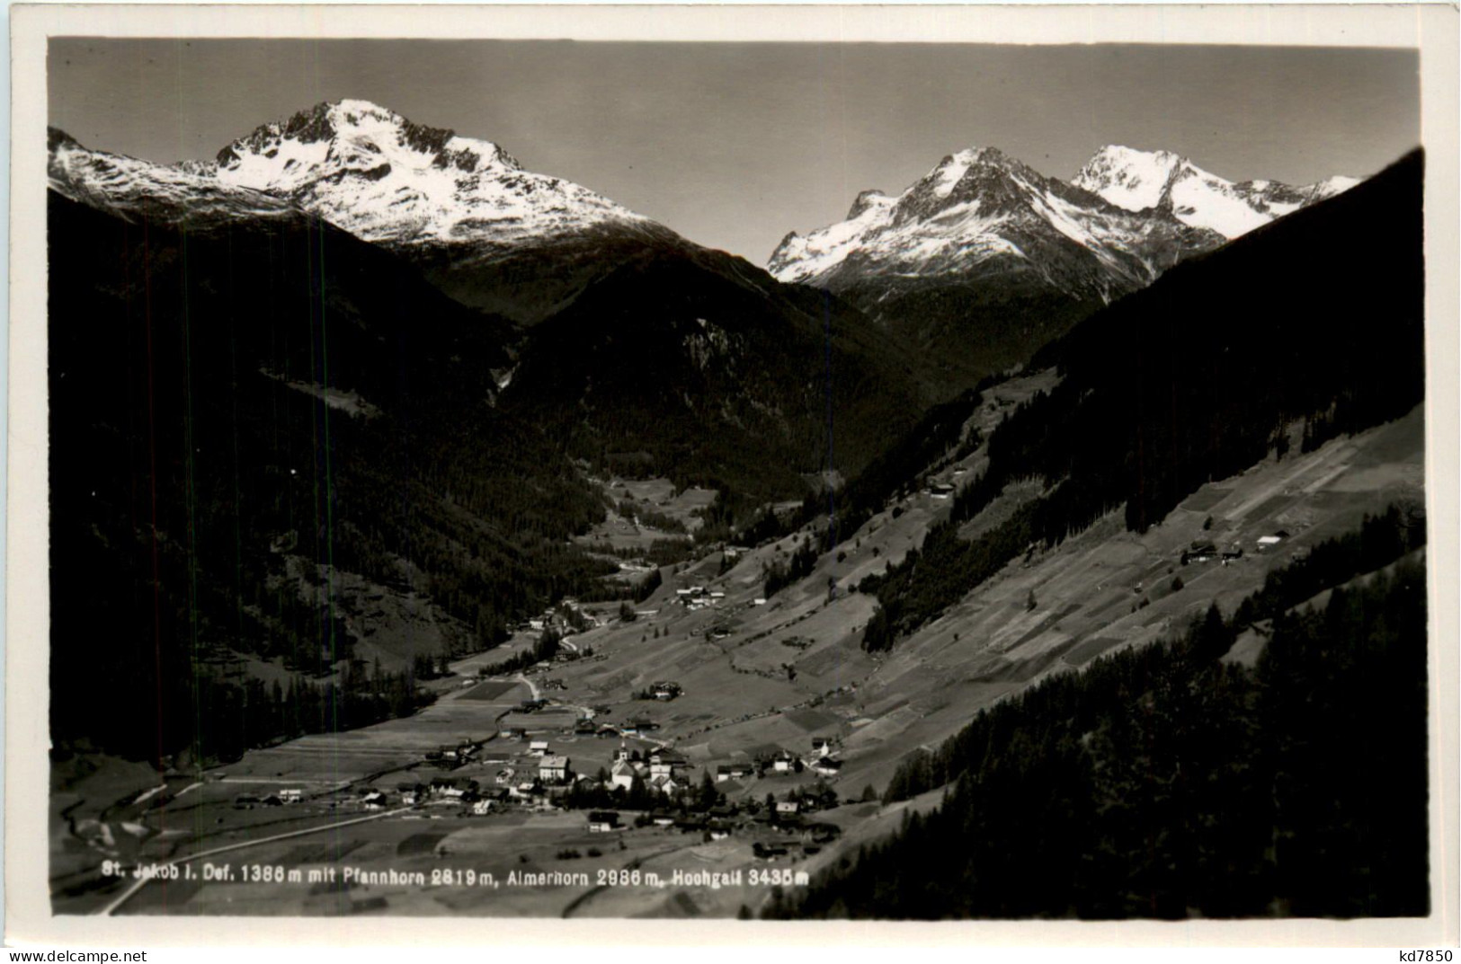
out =
[[[1007,383],[972,422],[988,426],[1045,378]],[[248,751],[202,779],[168,773],[159,786],[139,765],[75,780],[56,795],[57,908],[757,914],[904,812],[937,805],[938,793],[884,803],[884,790],[900,761],[980,707],[1156,640],[1211,600],[1252,592],[1268,568],[1363,513],[1419,498],[1420,426],[1417,413],[1270,459],[1204,486],[1160,530],[1121,535],[1115,520],[1099,523],[1011,562],[894,654],[861,647],[874,600],[858,583],[947,514],[947,495],[983,467],[983,448],[931,466],[922,486],[774,593],[766,573],[812,530],[697,546],[663,567],[630,561],[630,578],[659,577],[647,596],[558,600],[506,644],[450,660],[422,684],[431,704],[408,717]],[[698,516],[687,504],[704,495],[653,491],[693,533]],[[996,501],[986,513],[1008,510]],[[611,516],[583,540],[611,536],[649,545],[666,533]],[[1256,659],[1264,640],[1249,637],[1224,659]],[[96,873],[102,856],[187,866],[221,859],[213,852],[298,879],[184,872],[123,890]],[[323,879],[329,866],[354,868],[351,881]],[[362,882],[387,871],[435,871],[440,884]],[[698,872],[739,884],[671,884]],[[618,885],[630,879],[621,873],[640,884]],[[453,882],[460,875],[495,885]]]

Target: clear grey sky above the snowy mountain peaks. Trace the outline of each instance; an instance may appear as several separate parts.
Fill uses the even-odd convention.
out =
[[[1363,48],[64,38],[48,112],[89,148],[172,162],[374,101],[764,263],[969,146],[1062,178],[1109,143],[1235,181],[1370,174],[1420,143],[1417,70]]]

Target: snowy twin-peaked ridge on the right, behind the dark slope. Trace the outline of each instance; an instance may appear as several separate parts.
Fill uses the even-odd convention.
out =
[[[1102,298],[1150,283],[1182,256],[1268,223],[1357,181],[1306,187],[1226,181],[1169,150],[1107,146],[1069,183],[1048,178],[995,148],[944,158],[893,197],[858,196],[847,218],[806,235],[789,234],[768,263],[786,282],[833,289],[853,278],[939,276],[992,260],[1024,261],[1052,283]],[[1031,251],[1061,235],[1090,253],[1105,278],[1069,278]],[[1058,245],[1055,245],[1058,247]],[[1064,278],[1064,280],[1062,280]]]

